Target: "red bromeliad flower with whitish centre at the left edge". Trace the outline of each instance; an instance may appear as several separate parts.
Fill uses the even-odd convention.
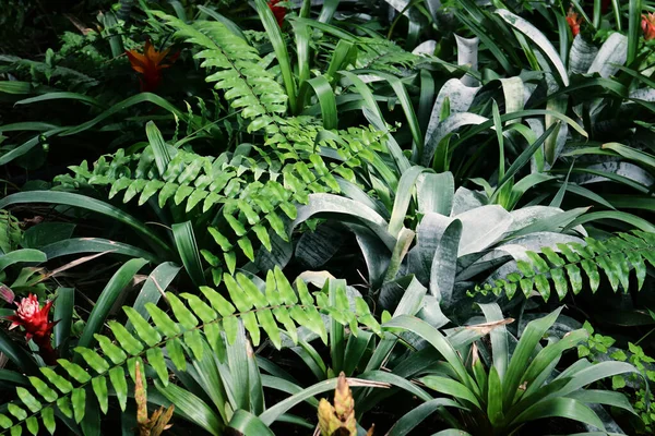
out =
[[[57,352],[52,349],[50,339],[52,337],[52,327],[57,323],[48,320],[52,301],[47,302],[45,306],[40,307],[37,296],[31,293],[27,298],[22,299],[20,303],[16,303],[13,291],[5,286],[0,287],[0,298],[17,306],[15,315],[7,317],[7,319],[12,322],[9,329],[22,326],[25,329],[25,339],[27,341],[29,339],[34,340],[34,343],[38,346],[39,354],[44,358],[44,361],[48,365],[55,364]]]

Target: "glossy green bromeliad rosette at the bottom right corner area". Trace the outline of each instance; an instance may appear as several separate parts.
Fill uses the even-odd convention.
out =
[[[481,305],[481,308],[490,323],[501,319],[498,306]],[[545,417],[565,417],[605,428],[603,420],[587,404],[607,404],[634,413],[621,393],[585,389],[606,377],[638,373],[632,365],[622,362],[594,365],[581,359],[561,373],[556,372],[562,354],[588,336],[585,329],[579,329],[561,339],[549,338],[549,343],[541,347],[539,342],[560,312],[561,307],[528,323],[513,352],[505,327],[493,328],[489,334],[490,350],[483,354],[489,356],[486,362],[476,344],[464,359],[453,349],[442,351],[449,366],[418,380],[465,408],[462,423],[476,435],[517,434],[527,422]],[[480,347],[486,348],[483,343]]]

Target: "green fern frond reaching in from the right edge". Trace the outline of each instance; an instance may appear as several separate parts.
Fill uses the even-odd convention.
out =
[[[529,298],[536,289],[548,301],[552,282],[562,300],[569,291],[577,294],[583,289],[583,271],[592,292],[596,292],[600,284],[600,271],[615,292],[619,287],[627,291],[631,269],[634,269],[636,277],[636,289],[641,290],[647,264],[655,266],[655,233],[635,230],[632,233],[619,233],[605,241],[586,238],[585,242],[586,245],[576,242],[559,243],[559,253],[549,247],[541,249],[540,253],[528,251],[528,261],[516,262],[520,272],[509,274],[505,279],[496,280],[493,284],[478,286],[474,293],[493,292],[500,295],[504,292],[511,299],[521,289]]]

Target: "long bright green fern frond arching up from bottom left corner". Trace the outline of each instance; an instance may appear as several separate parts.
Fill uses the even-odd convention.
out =
[[[282,334],[297,342],[297,326],[309,328],[327,342],[321,314],[330,315],[350,328],[355,327],[354,334],[358,324],[376,334],[382,332],[362,299],[357,298],[356,313],[350,311],[343,281],[338,281],[337,286],[326,284],[323,291],[312,295],[301,279],[296,280],[294,289],[276,267],[269,271],[263,291],[242,274],[225,275],[224,283],[229,301],[207,287],[201,288],[204,299],[190,293],[182,293],[178,298],[167,292],[172,317],[153,303],[146,304],[151,322],[134,308],[123,307],[136,334],[132,335],[122,324],[111,322],[109,328],[116,341],[107,336],[95,335],[98,349],[78,347],[74,350],[76,363],[60,359],[58,363],[63,371],[59,373],[50,367],[41,367],[41,377],[29,377],[31,389],[16,389],[20,401],[8,404],[11,416],[0,413],[0,427],[4,428],[0,434],[20,434],[17,427],[23,425],[32,434],[37,434],[40,426],[38,417],[52,434],[56,427],[55,410],[79,423],[84,419],[87,397],[97,401],[99,409],[106,413],[109,384],[124,411],[128,399],[126,370],[134,380],[135,364],[139,362],[143,367],[145,359],[158,382],[168,386],[167,359],[176,370],[184,371],[188,362],[200,360],[207,352],[204,350],[206,341],[211,351],[224,362],[227,347],[237,340],[240,323],[254,346],[261,341],[261,330],[264,330],[277,349],[282,348]],[[324,294],[329,290],[335,292],[334,301],[337,304],[330,305],[331,299]]]

